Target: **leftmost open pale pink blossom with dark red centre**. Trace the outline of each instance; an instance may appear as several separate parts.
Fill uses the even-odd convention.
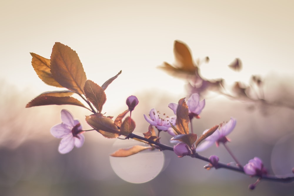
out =
[[[62,138],[58,151],[61,154],[69,153],[74,146],[82,147],[85,137],[82,133],[81,123],[74,120],[73,115],[68,110],[61,110],[61,124],[55,125],[51,128],[51,134],[56,138]]]

